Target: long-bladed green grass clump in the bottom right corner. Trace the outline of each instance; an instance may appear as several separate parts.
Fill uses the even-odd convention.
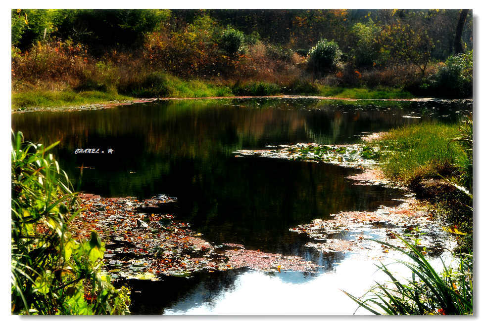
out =
[[[386,265],[381,264],[378,267],[390,279],[388,284],[376,282],[360,298],[343,292],[360,307],[376,315],[472,315],[472,254],[461,255],[456,268],[442,261],[443,271],[437,273],[416,246],[403,239],[401,241],[407,250],[386,242],[376,242],[410,259],[396,260],[410,270],[410,279],[397,279]]]

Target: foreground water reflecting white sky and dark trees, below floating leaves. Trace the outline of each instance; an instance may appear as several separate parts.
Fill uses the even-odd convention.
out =
[[[165,315],[347,315],[357,305],[340,289],[362,295],[372,285],[371,277],[376,272],[373,263],[348,257],[331,272],[266,273],[242,269],[200,273],[190,279],[131,281],[137,291],[132,295],[131,311]],[[383,279],[380,273],[376,276]]]

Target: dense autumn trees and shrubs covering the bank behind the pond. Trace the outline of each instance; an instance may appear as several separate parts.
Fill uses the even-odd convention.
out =
[[[12,90],[467,97],[472,29],[457,9],[14,9]]]

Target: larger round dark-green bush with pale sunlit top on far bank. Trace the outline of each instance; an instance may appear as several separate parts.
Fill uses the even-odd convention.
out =
[[[315,73],[325,74],[337,67],[341,50],[335,41],[322,39],[308,51],[308,66]]]

